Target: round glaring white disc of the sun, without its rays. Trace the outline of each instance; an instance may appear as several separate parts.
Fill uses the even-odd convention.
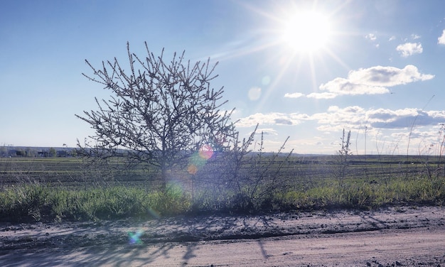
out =
[[[322,13],[294,13],[284,21],[282,42],[295,53],[315,53],[325,47],[331,36],[331,25]]]

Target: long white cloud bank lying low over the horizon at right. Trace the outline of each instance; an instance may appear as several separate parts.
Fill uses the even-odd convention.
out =
[[[418,153],[422,142],[437,142],[437,132],[441,131],[441,123],[445,121],[445,111],[433,110],[424,111],[422,109],[365,109],[360,106],[338,107],[331,106],[325,112],[315,114],[285,114],[285,113],[269,113],[269,114],[252,114],[240,120],[237,127],[252,127],[260,124],[257,134],[263,132],[264,135],[277,136],[278,131],[274,126],[292,126],[298,131],[305,131],[305,122],[308,124],[318,124],[316,129],[323,136],[330,136],[331,133],[341,133],[343,129],[354,132],[354,138],[361,138],[363,134],[368,136],[368,140],[375,140],[382,144],[380,150],[385,146],[386,150],[395,151],[397,146],[406,147],[407,140],[411,140],[410,153]],[[264,126],[264,125],[269,126]],[[300,124],[301,126],[296,126]],[[366,131],[364,130],[366,129]],[[356,133],[356,134],[355,134]],[[316,133],[311,133],[316,135]],[[358,137],[359,134],[361,137]],[[410,136],[408,136],[411,134]],[[357,136],[357,137],[356,137]],[[314,136],[315,137],[315,136]],[[314,138],[311,137],[311,138]],[[318,139],[322,141],[324,146],[333,141],[331,137],[327,139]],[[415,139],[415,141],[414,141]],[[312,140],[312,139],[311,139]],[[333,142],[337,146],[338,141]],[[389,143],[385,143],[389,142]],[[391,145],[395,144],[394,146]],[[395,142],[395,143],[394,143]],[[320,144],[320,143],[318,143]],[[279,144],[278,144],[279,146]],[[288,143],[289,146],[289,143]],[[299,148],[301,139],[292,143],[293,148]],[[315,146],[312,143],[311,146]],[[299,148],[300,149],[300,148]],[[301,149],[303,149],[301,147]],[[398,149],[398,148],[397,148]]]

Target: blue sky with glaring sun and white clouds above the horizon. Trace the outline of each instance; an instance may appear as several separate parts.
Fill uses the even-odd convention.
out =
[[[294,153],[439,153],[445,122],[444,1],[4,1],[0,144],[75,146],[92,135],[75,114],[109,92],[85,59],[219,62],[237,129]],[[433,146],[431,146],[433,145]]]

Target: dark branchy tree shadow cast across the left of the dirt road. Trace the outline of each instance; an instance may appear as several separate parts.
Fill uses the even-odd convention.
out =
[[[15,229],[14,234],[0,235],[0,266],[146,266],[155,261],[177,266],[197,256],[197,241],[232,235],[240,227],[240,218],[217,216],[73,223],[66,228],[10,226],[7,231]]]

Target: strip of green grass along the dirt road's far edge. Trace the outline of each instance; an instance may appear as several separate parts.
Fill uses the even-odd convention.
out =
[[[395,179],[388,184],[335,182],[309,190],[287,190],[250,200],[232,191],[197,192],[194,200],[181,187],[148,192],[139,187],[68,190],[23,184],[0,192],[0,217],[16,222],[153,218],[189,212],[277,212],[311,209],[372,209],[387,205],[442,205],[444,180]],[[194,201],[194,202],[193,202]],[[193,205],[195,204],[195,205]]]

